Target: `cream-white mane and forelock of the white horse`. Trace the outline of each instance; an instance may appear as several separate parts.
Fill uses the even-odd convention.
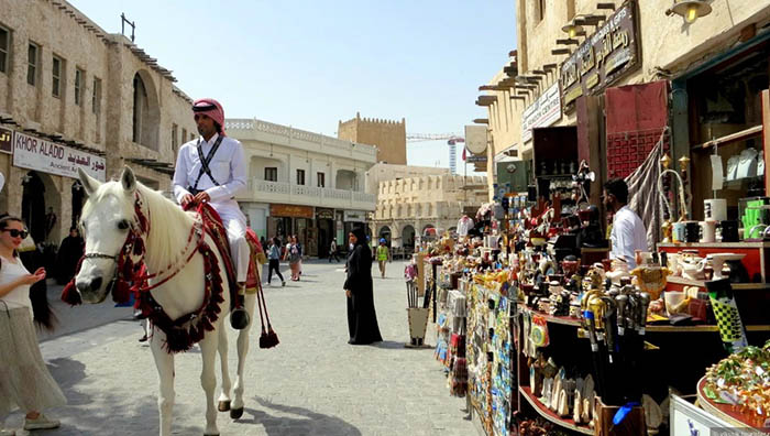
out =
[[[152,251],[152,257],[145,258],[147,271],[160,271],[166,268],[169,262],[177,260],[182,246],[187,242],[195,219],[160,192],[151,189],[140,182],[136,182],[136,190],[142,198],[144,209],[147,210],[146,218],[150,220],[150,235],[144,241],[147,252]],[[134,198],[125,196],[125,190],[120,182],[108,182],[99,186],[92,198],[89,198],[84,205],[82,216],[88,216],[95,203],[99,203],[110,195],[121,200],[120,204],[124,208],[123,214],[127,217],[133,217],[134,222],[136,222]]]

